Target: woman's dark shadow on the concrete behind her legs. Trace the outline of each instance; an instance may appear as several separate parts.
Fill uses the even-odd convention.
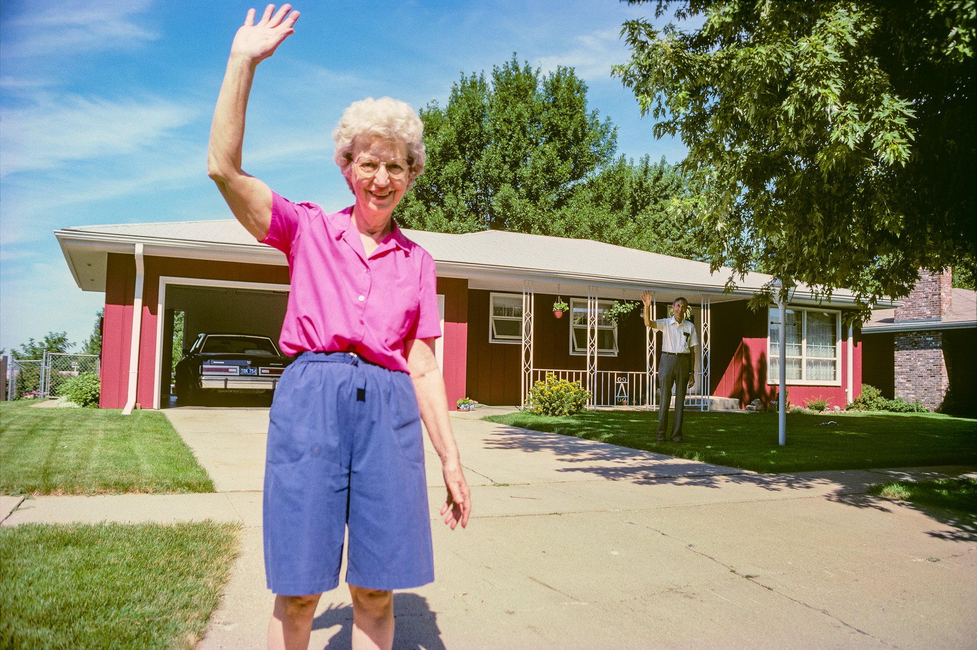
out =
[[[427,598],[416,593],[394,594],[395,648],[417,648],[425,650],[446,650],[438,628],[438,615],[428,607]],[[313,629],[335,626],[342,628],[333,634],[323,650],[349,648],[353,639],[353,606],[330,606],[313,621]]]

